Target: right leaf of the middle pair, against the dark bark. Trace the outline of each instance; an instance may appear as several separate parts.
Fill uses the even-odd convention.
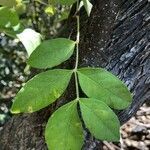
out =
[[[127,87],[110,72],[102,68],[82,68],[78,75],[80,86],[88,97],[97,98],[115,109],[124,109],[131,103]]]

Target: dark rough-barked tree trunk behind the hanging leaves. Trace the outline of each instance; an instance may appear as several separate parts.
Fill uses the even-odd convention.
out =
[[[134,95],[131,106],[117,112],[123,124],[150,99],[150,3],[148,0],[93,0],[93,4],[90,18],[81,12],[79,62],[80,66],[106,68],[131,90]],[[70,17],[67,26],[70,36],[75,32],[73,20]],[[65,65],[73,63],[74,58]],[[72,93],[68,90],[62,99],[73,99]],[[13,116],[0,131],[0,149],[46,150],[44,129],[52,108],[54,105],[33,114]],[[84,149],[100,149],[97,143],[86,137]]]

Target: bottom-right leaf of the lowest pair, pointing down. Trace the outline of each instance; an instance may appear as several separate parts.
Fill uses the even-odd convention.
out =
[[[119,141],[120,123],[115,113],[103,102],[93,99],[80,99],[81,114],[85,126],[100,140]]]

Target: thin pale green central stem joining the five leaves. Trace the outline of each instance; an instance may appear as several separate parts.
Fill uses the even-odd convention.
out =
[[[77,0],[77,8],[76,8],[77,11],[78,11],[78,8],[79,8],[79,0]],[[76,62],[75,62],[74,74],[75,74],[75,86],[76,86],[76,96],[77,96],[76,99],[79,100],[79,85],[78,85],[78,76],[77,76],[77,69],[78,69],[78,63],[79,63],[79,42],[80,42],[79,15],[77,15],[76,18],[77,18],[77,36],[76,36]]]

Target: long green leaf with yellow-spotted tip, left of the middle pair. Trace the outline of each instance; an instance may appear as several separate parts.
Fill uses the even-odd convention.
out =
[[[16,95],[11,112],[35,112],[53,103],[65,91],[71,74],[70,70],[56,69],[36,75]]]

